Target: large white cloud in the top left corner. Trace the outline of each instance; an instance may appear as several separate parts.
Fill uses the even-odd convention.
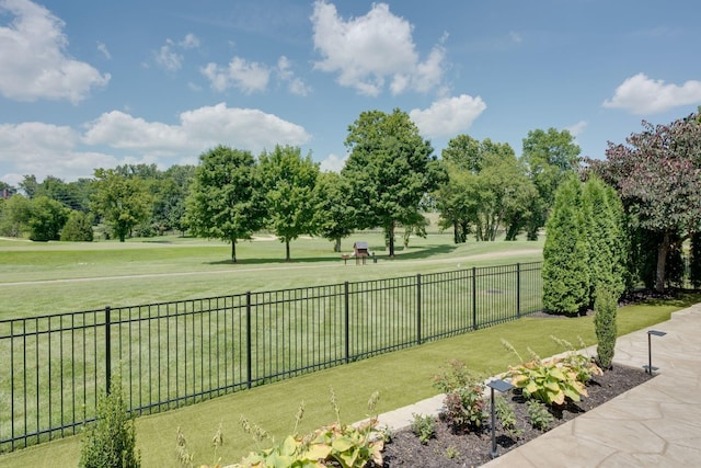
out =
[[[14,16],[0,26],[0,93],[18,101],[37,99],[84,100],[93,87],[104,87],[110,73],[71,58],[64,22],[28,0],[0,2],[0,18]]]

